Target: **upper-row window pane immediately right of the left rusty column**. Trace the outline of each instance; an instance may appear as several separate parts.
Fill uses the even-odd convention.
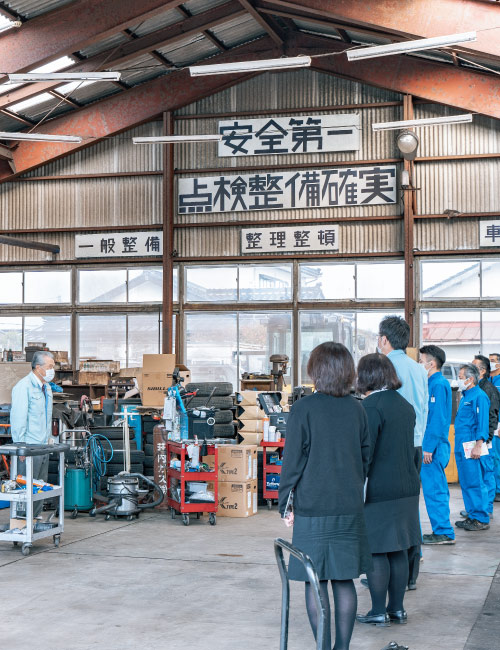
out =
[[[238,298],[236,266],[188,266],[184,273],[188,302],[227,302]]]

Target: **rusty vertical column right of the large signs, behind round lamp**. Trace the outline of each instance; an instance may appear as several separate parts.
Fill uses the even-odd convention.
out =
[[[403,99],[403,120],[413,119],[413,98],[405,95]],[[414,163],[404,161],[404,169],[413,184]],[[410,326],[410,347],[415,347],[415,257],[413,254],[414,194],[411,189],[403,190],[404,205],[404,253],[405,253],[405,319]]]

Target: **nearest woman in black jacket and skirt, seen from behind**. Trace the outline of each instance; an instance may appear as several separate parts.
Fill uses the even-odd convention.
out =
[[[294,491],[292,543],[312,559],[323,601],[328,581],[335,602],[334,650],[348,650],[357,608],[353,578],[369,571],[371,556],[363,515],[369,456],[366,413],[349,393],[355,369],[340,343],[322,343],[307,372],[316,391],[292,407],[279,488],[279,510]],[[305,582],[306,607],[316,637],[318,614],[302,564],[290,558],[291,580]],[[327,635],[330,634],[328,604]],[[328,643],[330,641],[328,640]]]

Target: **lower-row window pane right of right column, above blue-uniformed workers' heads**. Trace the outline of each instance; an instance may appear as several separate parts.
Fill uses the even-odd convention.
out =
[[[449,362],[470,362],[481,347],[479,311],[423,311],[422,343],[438,345]]]

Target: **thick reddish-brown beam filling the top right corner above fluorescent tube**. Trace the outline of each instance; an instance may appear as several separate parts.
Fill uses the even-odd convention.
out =
[[[294,11],[339,20],[399,38],[431,38],[476,30],[477,41],[460,49],[470,54],[500,57],[500,6],[477,0],[272,0]],[[483,29],[489,31],[481,31]]]

